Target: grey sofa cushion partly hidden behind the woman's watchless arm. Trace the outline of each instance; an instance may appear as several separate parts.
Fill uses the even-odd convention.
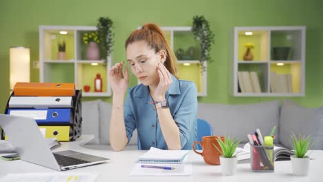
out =
[[[111,118],[111,103],[99,101],[99,118],[100,118],[100,141],[101,144],[110,144],[110,118]],[[137,145],[137,130],[133,132],[129,144]]]

